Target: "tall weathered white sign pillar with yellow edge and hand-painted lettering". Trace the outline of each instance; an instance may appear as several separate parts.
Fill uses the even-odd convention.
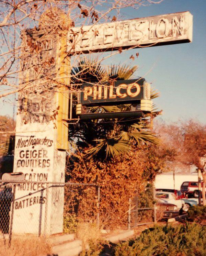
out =
[[[60,19],[68,26],[66,14]],[[43,16],[40,30],[22,34],[13,171],[23,172],[25,182],[15,189],[13,233],[50,235],[63,229],[64,186],[58,183],[65,181],[70,59],[64,31],[49,33],[44,21]]]

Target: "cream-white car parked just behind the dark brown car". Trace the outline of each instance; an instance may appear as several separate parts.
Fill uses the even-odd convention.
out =
[[[187,211],[185,208],[185,202],[182,199],[176,199],[175,194],[172,192],[156,191],[156,199],[159,203],[171,203],[177,206],[178,211]]]

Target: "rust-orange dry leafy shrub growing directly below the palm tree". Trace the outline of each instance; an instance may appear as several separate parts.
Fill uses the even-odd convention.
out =
[[[72,182],[95,183],[100,186],[100,220],[106,227],[116,228],[127,225],[129,198],[143,191],[150,170],[149,155],[142,150],[131,150],[113,161],[102,162],[94,159],[85,161],[82,154],[68,170]]]

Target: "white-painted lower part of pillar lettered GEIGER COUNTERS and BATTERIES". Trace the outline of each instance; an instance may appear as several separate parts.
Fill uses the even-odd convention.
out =
[[[55,130],[51,128],[45,132],[25,132],[16,135],[14,172],[23,172],[25,181],[32,183],[25,182],[16,186],[13,233],[62,232],[63,221],[60,216],[63,216],[64,187],[50,185],[46,198],[47,182],[65,180],[65,152],[55,149]],[[20,140],[23,141],[22,138],[24,143],[18,144]],[[35,140],[42,143],[35,144]],[[26,145],[25,141],[30,143]]]

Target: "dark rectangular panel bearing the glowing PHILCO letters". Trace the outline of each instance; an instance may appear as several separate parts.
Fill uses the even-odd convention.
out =
[[[83,84],[81,104],[141,100],[144,95],[144,78],[118,80],[105,84]]]

